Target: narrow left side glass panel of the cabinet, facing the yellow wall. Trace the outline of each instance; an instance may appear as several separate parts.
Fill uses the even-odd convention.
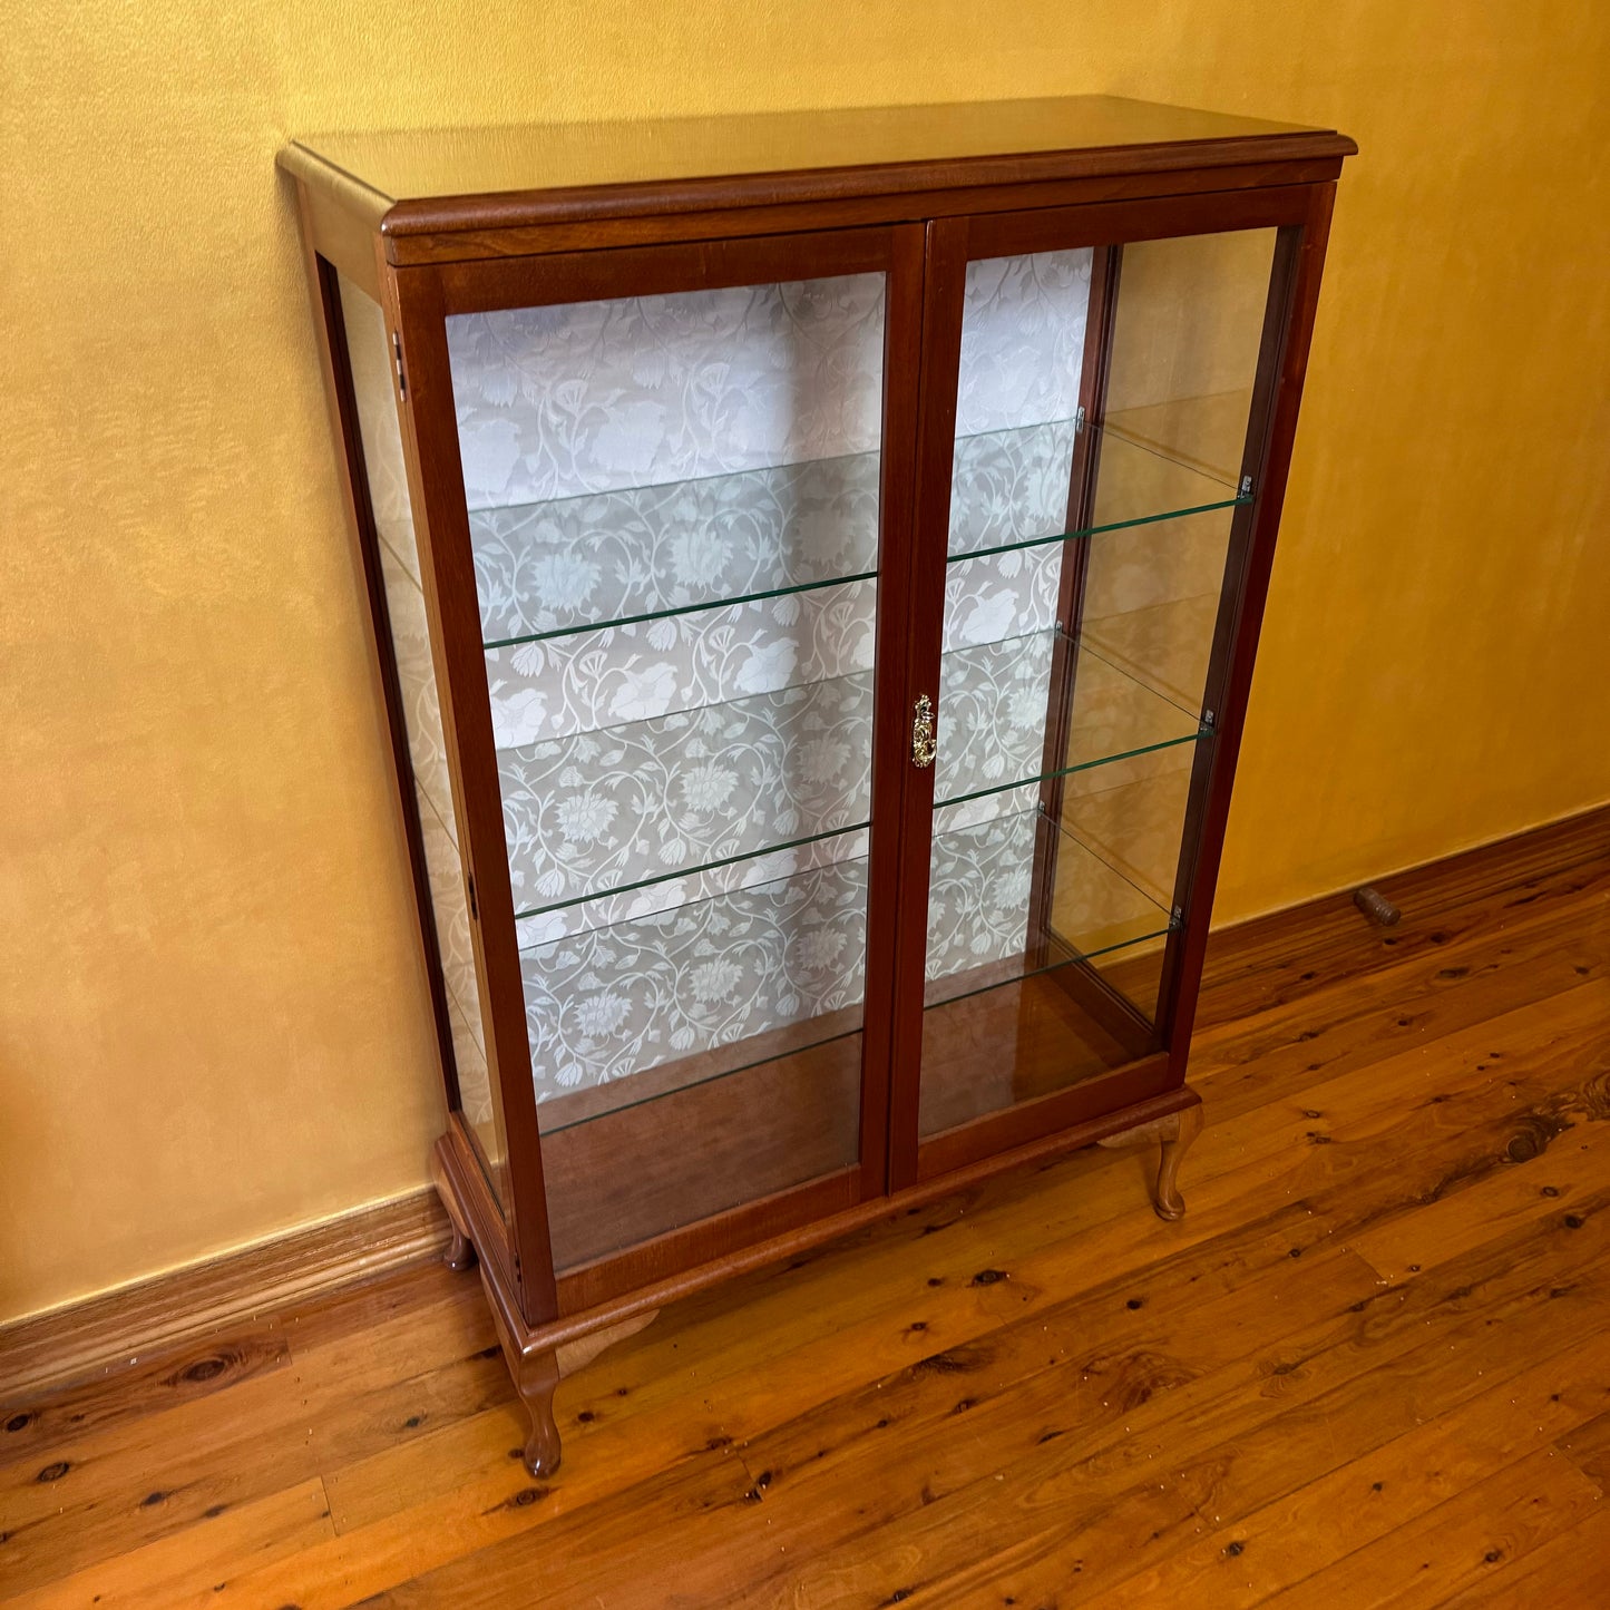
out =
[[[402,687],[402,720],[414,770],[414,800],[425,844],[436,948],[441,956],[452,1027],[452,1061],[459,1103],[475,1138],[481,1169],[507,1211],[507,1156],[502,1106],[486,1058],[486,1018],[477,982],[475,948],[459,823],[448,778],[448,745],[441,729],[436,670],[430,652],[414,510],[402,460],[402,428],[391,390],[391,349],[380,306],[349,280],[341,280],[341,317],[353,369],[369,502],[380,538],[380,572],[391,618],[391,649]]]

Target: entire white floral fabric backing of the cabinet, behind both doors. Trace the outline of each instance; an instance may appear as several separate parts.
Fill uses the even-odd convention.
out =
[[[1026,940],[1061,549],[985,551],[1064,528],[1088,287],[969,267],[937,787],[1003,792],[937,818],[931,979]],[[882,320],[881,275],[449,320],[539,1098],[861,1000]]]

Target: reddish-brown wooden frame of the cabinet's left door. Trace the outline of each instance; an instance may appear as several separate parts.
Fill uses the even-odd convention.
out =
[[[528,1325],[544,1325],[633,1290],[646,1270],[667,1275],[887,1191],[889,1024],[894,993],[897,876],[905,787],[900,728],[910,612],[910,533],[921,343],[923,229],[916,224],[728,242],[391,267],[406,375],[404,431],[427,607],[443,689],[443,726],[470,879],[477,969],[486,1001],[488,1061],[502,1096],[510,1177],[510,1274]],[[879,272],[884,303],[884,428],[879,480],[879,578],[873,715],[873,815],[868,879],[866,1005],[861,1027],[860,1162],[787,1191],[670,1230],[650,1243],[559,1275],[549,1235],[543,1148],[520,979],[480,605],[459,456],[446,319],[504,308],[554,306],[633,295]],[[390,324],[391,320],[388,320]],[[462,1138],[462,1137],[460,1137]],[[462,1170],[454,1174],[459,1177]],[[473,1216],[472,1216],[473,1217]]]

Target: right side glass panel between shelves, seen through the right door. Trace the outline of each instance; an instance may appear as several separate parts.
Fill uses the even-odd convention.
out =
[[[1182,472],[1238,486],[1249,473],[1246,438],[1274,251],[1275,230],[1267,229],[1138,242],[1117,254],[1095,522],[1154,504]],[[1108,449],[1116,440],[1143,444],[1150,459],[1114,459]],[[1214,646],[1233,607],[1225,594],[1238,586],[1235,535],[1233,509],[1109,530],[1088,544],[1082,575],[1080,644],[1201,712],[1209,734]],[[1082,699],[1075,678],[1075,720]],[[1170,908],[1185,900],[1180,855],[1198,760],[1206,755],[1158,755],[1069,778],[1061,791],[1069,831]],[[1162,947],[1153,943],[1096,958],[1093,968],[1154,1018],[1161,961]]]

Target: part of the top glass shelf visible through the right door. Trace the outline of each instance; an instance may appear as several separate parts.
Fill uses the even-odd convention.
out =
[[[1069,530],[1067,486],[1080,433],[1100,454],[1095,518]],[[993,451],[980,456],[976,444],[984,440]],[[1253,501],[1251,493],[1214,470],[1170,457],[1111,425],[1080,430],[1074,420],[993,431],[989,438],[960,436],[953,475],[952,565]],[[1008,530],[1001,528],[1003,510]]]

